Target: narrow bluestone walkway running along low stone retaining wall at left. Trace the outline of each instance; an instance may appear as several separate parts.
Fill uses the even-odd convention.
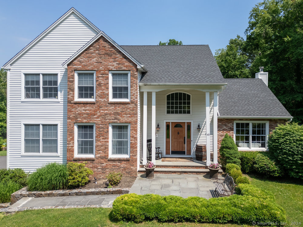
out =
[[[23,210],[50,208],[112,207],[120,195],[60,196],[60,197],[24,197],[0,212],[17,212]]]

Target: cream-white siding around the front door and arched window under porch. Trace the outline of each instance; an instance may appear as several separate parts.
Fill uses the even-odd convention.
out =
[[[179,90],[176,90],[179,91]],[[195,156],[195,147],[199,143],[206,145],[206,109],[205,109],[205,92],[199,90],[186,90],[191,94],[191,114],[166,114],[165,96],[171,93],[172,90],[162,90],[156,92],[156,125],[159,123],[160,131],[156,132],[156,147],[161,147],[162,153],[165,154],[164,149],[164,122],[193,122],[191,125],[193,135],[193,146],[191,147],[192,155]],[[143,92],[141,97],[143,99]],[[210,145],[211,152],[213,151],[213,113],[214,113],[214,94],[209,92],[210,102]],[[143,105],[141,105],[141,113],[143,115]],[[200,124],[201,130],[198,132],[197,126]],[[141,127],[141,130],[143,128]],[[151,139],[151,92],[147,92],[147,139]],[[146,141],[142,141],[142,147],[146,146]]]

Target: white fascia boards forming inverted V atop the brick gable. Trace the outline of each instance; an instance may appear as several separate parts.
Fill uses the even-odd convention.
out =
[[[122,47],[120,47],[115,41],[113,41],[108,35],[106,35],[103,31],[100,31],[94,38],[92,38],[90,41],[88,41],[81,49],[79,49],[75,54],[73,54],[70,58],[68,58],[63,64],[63,68],[67,68],[67,65],[74,60],[78,55],[80,55],[83,51],[85,51],[86,48],[88,48],[92,43],[94,43],[98,38],[103,36],[106,38],[111,44],[113,44],[119,51],[121,51],[123,54],[125,54],[126,57],[128,57],[130,60],[132,60],[138,68],[142,68],[145,72],[147,72],[147,69],[144,65],[142,65],[140,62],[138,62],[135,58],[133,58],[128,52],[126,52]]]

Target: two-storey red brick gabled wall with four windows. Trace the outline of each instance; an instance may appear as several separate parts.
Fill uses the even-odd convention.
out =
[[[96,101],[75,102],[75,70],[96,71]],[[130,102],[109,102],[109,71],[131,72]],[[91,177],[109,172],[137,176],[138,71],[137,65],[100,37],[68,64],[67,162],[87,161]],[[95,158],[74,158],[74,124],[95,123]],[[108,157],[109,123],[130,123],[130,158]]]

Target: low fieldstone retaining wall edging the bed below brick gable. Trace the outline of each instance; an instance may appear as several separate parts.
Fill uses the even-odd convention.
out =
[[[108,194],[128,194],[130,188],[93,188],[93,189],[66,189],[53,191],[29,192],[27,187],[14,192],[11,195],[11,204],[14,204],[23,197],[55,197],[55,196],[88,196]]]

